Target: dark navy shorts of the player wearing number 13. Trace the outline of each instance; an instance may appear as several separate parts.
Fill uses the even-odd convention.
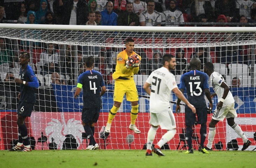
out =
[[[197,120],[196,120],[197,116]],[[197,107],[196,114],[192,112],[192,110],[185,106],[185,125],[193,126],[197,122],[197,124],[204,124],[207,122],[207,106]]]

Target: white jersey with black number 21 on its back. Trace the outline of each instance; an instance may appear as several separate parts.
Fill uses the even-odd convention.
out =
[[[149,111],[160,113],[170,108],[171,91],[178,87],[174,75],[167,68],[154,70],[146,80],[151,84]]]

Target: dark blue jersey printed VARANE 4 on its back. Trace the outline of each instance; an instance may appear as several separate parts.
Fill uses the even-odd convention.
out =
[[[83,88],[83,108],[100,107],[101,87],[105,86],[101,73],[95,70],[83,72],[78,77],[78,83]]]

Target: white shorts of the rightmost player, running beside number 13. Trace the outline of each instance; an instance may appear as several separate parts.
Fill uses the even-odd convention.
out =
[[[234,107],[235,103],[223,104],[220,110],[217,110],[217,108],[214,110],[212,118],[218,121],[223,121],[224,118],[236,118],[237,113]]]

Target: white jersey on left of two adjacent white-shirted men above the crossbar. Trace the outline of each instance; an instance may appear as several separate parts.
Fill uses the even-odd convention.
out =
[[[140,14],[140,22],[145,21],[145,26],[157,26],[161,25],[162,19],[161,14],[159,12],[154,12],[152,14],[148,14],[147,11],[144,11]]]

